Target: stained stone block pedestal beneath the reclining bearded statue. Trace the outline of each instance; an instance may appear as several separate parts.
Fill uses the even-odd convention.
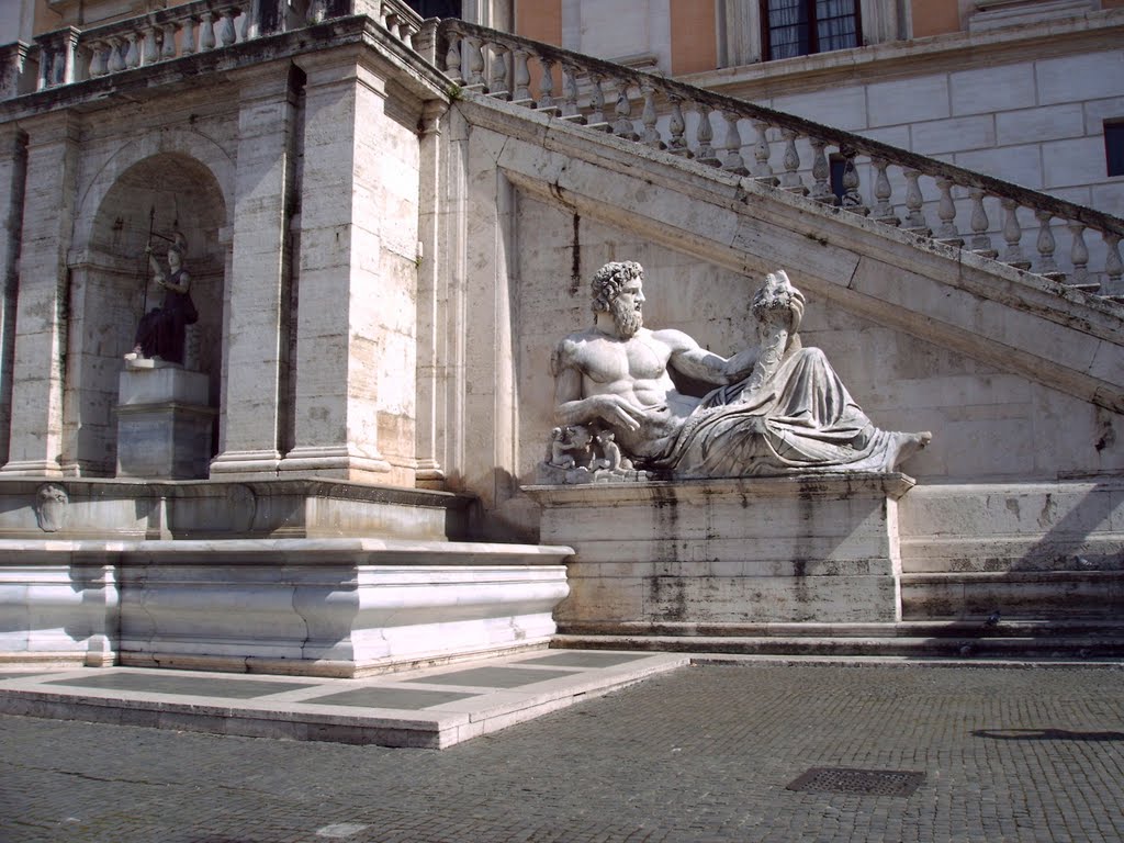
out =
[[[901,619],[897,500],[913,480],[818,474],[534,486],[566,544],[573,634],[740,634],[768,623]]]

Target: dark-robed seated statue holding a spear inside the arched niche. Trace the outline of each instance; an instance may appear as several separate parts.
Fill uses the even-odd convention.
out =
[[[187,326],[199,320],[199,311],[191,300],[191,277],[183,269],[187,251],[187,241],[176,232],[167,247],[165,270],[153,254],[152,244],[145,247],[152,280],[164,289],[164,300],[160,307],[154,307],[140,317],[133,351],[125,355],[125,360],[133,366],[138,366],[143,360],[183,364]],[[147,302],[147,292],[145,301]]]

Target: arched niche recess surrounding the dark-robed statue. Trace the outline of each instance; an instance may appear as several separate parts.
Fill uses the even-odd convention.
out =
[[[171,236],[187,239],[183,264],[199,321],[188,336],[184,368],[208,375],[218,408],[223,370],[223,302],[228,243],[223,191],[210,169],[182,153],[161,153],[125,170],[106,191],[85,247],[70,260],[63,470],[112,477],[117,462],[118,379],[137,323],[158,307],[145,247],[166,266]],[[218,432],[212,443],[218,442]],[[215,445],[212,445],[214,450]]]

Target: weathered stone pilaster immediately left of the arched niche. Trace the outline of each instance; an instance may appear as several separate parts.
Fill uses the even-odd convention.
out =
[[[66,347],[66,252],[74,218],[79,121],[57,112],[24,123],[26,192],[16,305],[11,432],[6,474],[57,477]]]

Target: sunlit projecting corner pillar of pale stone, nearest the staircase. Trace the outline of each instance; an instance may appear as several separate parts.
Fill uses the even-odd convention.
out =
[[[300,64],[294,447],[280,469],[411,487],[420,103],[351,48]]]

